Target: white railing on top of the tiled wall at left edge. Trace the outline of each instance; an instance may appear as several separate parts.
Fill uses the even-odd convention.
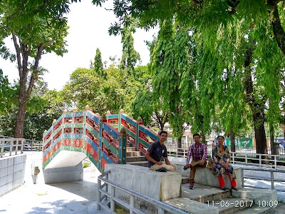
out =
[[[0,138],[0,158],[6,154],[9,156],[23,153],[24,138]]]

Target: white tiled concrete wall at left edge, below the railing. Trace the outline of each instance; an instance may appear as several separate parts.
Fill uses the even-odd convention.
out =
[[[0,196],[24,184],[26,155],[0,158]]]

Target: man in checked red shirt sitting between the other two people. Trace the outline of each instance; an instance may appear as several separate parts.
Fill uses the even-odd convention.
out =
[[[198,167],[206,167],[207,165],[207,146],[204,145],[204,143],[200,142],[200,136],[198,133],[195,133],[193,135],[194,139],[194,144],[191,145],[188,149],[187,153],[187,159],[186,159],[186,166],[185,169],[191,168],[190,170],[190,178],[189,178],[189,183],[190,183],[190,190],[193,189],[194,186],[194,178],[195,178],[195,173],[196,169]],[[191,163],[190,159],[192,159]]]

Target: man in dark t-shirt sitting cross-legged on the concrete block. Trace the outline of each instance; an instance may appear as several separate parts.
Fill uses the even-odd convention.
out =
[[[151,170],[158,171],[176,171],[176,164],[171,164],[167,158],[167,149],[165,147],[165,141],[167,140],[167,132],[161,131],[159,133],[160,141],[155,141],[150,144],[150,147],[147,148],[145,153],[145,158],[147,158],[148,168]],[[161,158],[165,159],[165,163],[162,163]],[[166,170],[165,170],[166,169]]]

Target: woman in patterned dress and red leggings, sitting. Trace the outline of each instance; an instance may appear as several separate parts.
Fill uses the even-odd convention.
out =
[[[219,178],[219,187],[222,190],[226,190],[224,187],[224,173],[226,172],[231,181],[232,189],[237,190],[236,176],[234,173],[234,168],[230,164],[231,154],[229,153],[229,148],[224,146],[224,136],[218,136],[218,145],[214,147],[212,151],[212,158],[214,162],[214,171],[217,173]]]

